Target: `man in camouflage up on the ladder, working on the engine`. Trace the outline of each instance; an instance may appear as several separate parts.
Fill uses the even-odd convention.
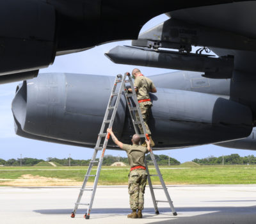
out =
[[[147,134],[150,138],[150,142],[151,142],[150,144],[151,144],[151,147],[154,147],[155,143],[151,138],[151,132],[148,128],[147,121],[150,115],[150,108],[152,107],[152,102],[149,97],[149,92],[156,93],[157,92],[156,86],[154,85],[151,79],[148,79],[148,77],[143,76],[143,74],[141,74],[138,68],[134,68],[132,70],[132,78],[135,79],[134,89],[137,94],[138,102],[140,104],[141,115],[144,121],[144,125],[146,127]],[[128,91],[132,92],[131,87],[130,88],[129,87],[130,86],[127,86]],[[138,113],[136,114],[136,116],[138,119]],[[141,134],[144,134],[141,125],[139,125],[139,128],[140,128]],[[147,144],[143,143],[142,145],[146,146]]]

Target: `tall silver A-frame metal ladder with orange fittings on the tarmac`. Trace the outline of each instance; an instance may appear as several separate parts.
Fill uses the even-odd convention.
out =
[[[127,77],[128,77],[128,79],[127,79]],[[127,92],[127,89],[125,87],[125,83],[129,83],[131,85],[132,93]],[[116,92],[116,87],[117,87],[118,84],[120,84],[120,89],[119,89],[118,92]],[[137,97],[136,97],[136,92],[134,90],[134,85],[132,83],[132,77],[127,73],[125,73],[124,76],[117,75],[116,79],[115,79],[115,83],[113,85],[111,95],[109,97],[108,107],[106,109],[106,113],[105,113],[105,116],[104,116],[104,119],[103,119],[103,122],[102,122],[102,126],[100,128],[97,143],[96,143],[95,148],[94,148],[94,153],[93,153],[92,159],[90,161],[90,164],[89,164],[88,170],[86,172],[86,175],[84,176],[83,185],[82,185],[82,188],[80,189],[80,193],[78,195],[77,202],[75,204],[74,210],[72,211],[72,214],[71,214],[72,218],[75,218],[79,205],[88,205],[88,209],[87,209],[87,212],[84,215],[84,218],[86,218],[86,220],[88,220],[90,218],[90,213],[92,211],[92,204],[93,204],[93,199],[94,199],[95,192],[96,192],[96,189],[97,189],[97,184],[98,184],[98,180],[99,180],[102,161],[103,161],[104,154],[105,154],[105,151],[106,151],[106,147],[108,145],[108,140],[109,140],[109,137],[110,137],[110,134],[106,132],[106,129],[111,128],[112,125],[113,125],[113,122],[114,122],[115,116],[116,116],[116,111],[117,111],[117,108],[118,108],[118,105],[119,105],[119,102],[120,102],[120,99],[121,99],[122,92],[124,92],[124,94],[125,94],[125,100],[126,100],[126,102],[128,104],[128,107],[129,107],[129,112],[130,112],[130,115],[131,115],[131,118],[132,118],[132,124],[134,126],[134,130],[135,130],[136,134],[139,134],[141,138],[145,138],[145,139],[147,138],[148,139],[147,134],[140,134],[140,132],[138,131],[139,130],[138,125],[141,125],[142,129],[143,129],[143,132],[146,133],[145,125],[143,123],[143,118],[142,118],[142,115],[141,115],[140,105],[138,103],[138,100],[137,100]],[[116,97],[116,100],[113,100],[115,97]],[[136,106],[133,106],[134,104],[136,104]],[[111,114],[111,112],[112,112],[112,114]],[[140,117],[140,120],[136,120],[136,113],[138,113],[138,115]],[[109,116],[110,116],[110,118],[109,118]],[[102,140],[104,140],[103,144],[101,143]],[[99,158],[99,161],[96,160],[96,156],[97,156],[98,151],[101,151],[101,156]],[[167,190],[167,188],[164,184],[163,177],[161,175],[161,172],[160,172],[159,167],[158,167],[157,162],[156,162],[156,158],[155,158],[151,148],[150,148],[150,157],[151,157],[151,159],[154,163],[154,166],[156,168],[157,175],[150,175],[150,173],[148,171],[148,166],[147,166],[146,159],[145,159],[145,166],[146,166],[146,171],[147,171],[147,175],[148,175],[147,176],[148,186],[150,188],[150,193],[151,193],[151,196],[152,196],[155,212],[156,212],[156,214],[159,214],[159,211],[158,211],[158,208],[157,208],[157,202],[168,202],[169,205],[170,205],[170,208],[173,212],[173,215],[177,216],[177,212],[175,211],[175,208],[173,207],[172,200],[171,200],[170,195],[168,193],[168,190]],[[97,172],[96,172],[96,175],[91,175],[90,173],[92,172],[92,167],[93,167],[93,164],[95,164],[95,163],[98,163]],[[150,177],[152,177],[152,176],[159,177],[162,188],[155,188],[155,187],[152,186],[152,181],[150,179]],[[86,188],[86,183],[87,183],[89,177],[95,177],[94,182],[93,182],[93,188]],[[163,189],[167,200],[166,201],[156,200],[156,197],[154,195],[154,189]],[[90,197],[90,202],[88,204],[80,203],[84,191],[92,191],[92,195]]]

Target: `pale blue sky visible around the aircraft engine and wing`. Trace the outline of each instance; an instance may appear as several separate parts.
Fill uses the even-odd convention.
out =
[[[166,19],[168,19],[166,15],[160,15],[159,17],[147,22],[141,31],[152,28],[152,26],[156,26]],[[115,76],[119,73],[127,71],[131,72],[134,66],[116,65],[104,56],[104,52],[108,52],[116,45],[131,45],[131,41],[104,44],[94,47],[88,51],[56,57],[54,64],[48,68],[40,70],[40,73],[70,72]],[[148,67],[140,68],[146,76],[172,72],[170,69]],[[11,103],[15,95],[15,88],[17,84],[18,83],[10,83],[0,86],[0,158],[17,158],[20,157],[20,154],[22,154],[22,157],[35,157],[38,159],[46,159],[47,157],[64,158],[68,157],[68,154],[71,154],[71,157],[74,159],[90,159],[93,154],[93,149],[91,148],[72,147],[47,143],[44,141],[29,140],[15,135]],[[237,153],[240,156],[247,156],[251,154],[256,156],[256,151],[223,148],[215,145],[204,145],[200,147],[180,148],[156,152],[156,154],[170,154],[171,157],[174,157],[182,163],[185,161],[191,161],[195,158],[222,156],[234,153]],[[106,154],[111,154],[113,156],[126,156],[125,152],[118,150],[107,150]]]

